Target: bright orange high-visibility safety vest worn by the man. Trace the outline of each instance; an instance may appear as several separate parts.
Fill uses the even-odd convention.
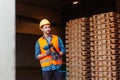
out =
[[[46,50],[43,49],[44,46],[48,44],[46,39],[44,37],[41,37],[38,40],[38,43],[40,45],[41,54],[46,54]],[[53,46],[56,48],[56,50],[60,52],[60,49],[58,47],[58,36],[52,35],[52,39],[50,43],[52,43]],[[54,50],[51,49],[51,52],[54,52]],[[47,66],[50,66],[51,64],[58,65],[58,64],[62,64],[62,59],[58,58],[57,60],[53,60],[52,56],[48,55],[43,58],[40,58],[40,64],[41,64],[41,67],[47,67]]]

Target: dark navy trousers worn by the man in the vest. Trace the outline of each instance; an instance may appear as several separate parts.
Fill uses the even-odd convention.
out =
[[[43,71],[43,80],[64,80],[62,72],[58,70]]]

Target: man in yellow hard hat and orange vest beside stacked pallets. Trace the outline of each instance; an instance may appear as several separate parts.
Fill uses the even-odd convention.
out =
[[[59,70],[62,66],[62,58],[65,54],[65,47],[62,39],[51,34],[51,23],[47,19],[40,21],[40,30],[43,36],[35,44],[35,56],[42,67],[43,80],[64,80]]]

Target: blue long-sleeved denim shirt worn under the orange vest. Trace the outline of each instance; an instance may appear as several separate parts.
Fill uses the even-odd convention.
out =
[[[50,38],[48,38],[47,41],[50,42]],[[65,54],[65,47],[64,47],[63,41],[60,37],[58,37],[58,47],[59,47],[60,51],[63,52],[63,54]],[[38,59],[39,54],[41,54],[40,45],[37,41],[35,44],[35,57],[36,57],[36,59]],[[56,70],[56,69],[59,69],[60,67],[61,67],[61,65],[53,65],[52,64],[48,67],[42,68],[42,71]]]

